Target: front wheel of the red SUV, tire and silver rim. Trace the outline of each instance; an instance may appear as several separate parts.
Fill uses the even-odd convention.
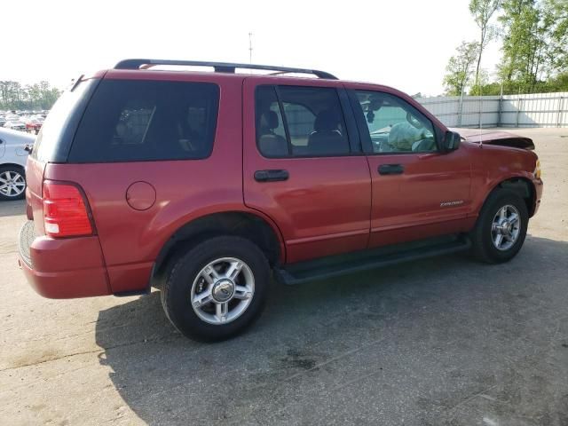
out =
[[[473,255],[488,264],[509,262],[523,247],[528,223],[525,201],[517,193],[501,188],[494,190],[487,197],[470,234]]]

